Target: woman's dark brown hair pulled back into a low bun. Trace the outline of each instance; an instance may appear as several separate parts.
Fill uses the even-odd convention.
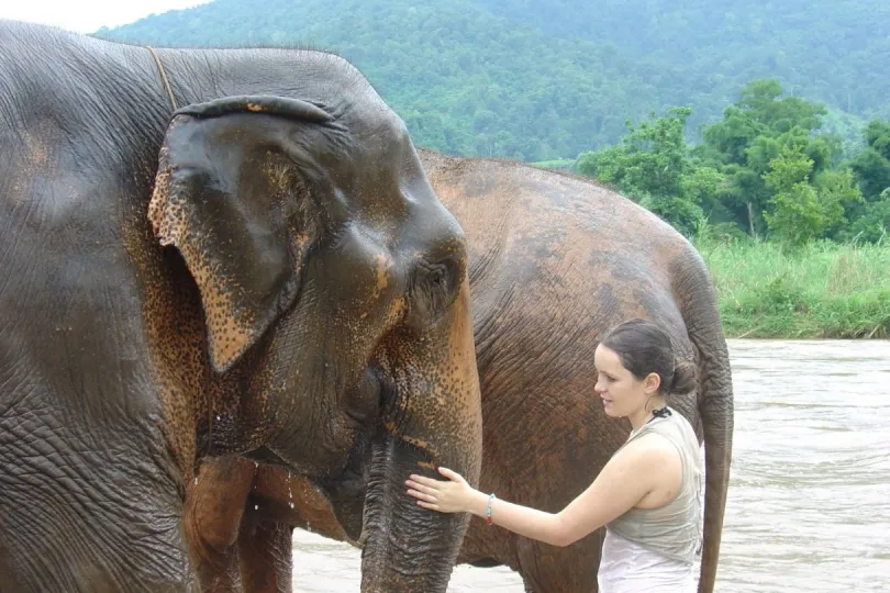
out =
[[[628,320],[613,327],[601,344],[619,355],[622,366],[637,379],[656,373],[661,379],[663,395],[696,391],[696,365],[677,360],[670,336],[658,325]]]

